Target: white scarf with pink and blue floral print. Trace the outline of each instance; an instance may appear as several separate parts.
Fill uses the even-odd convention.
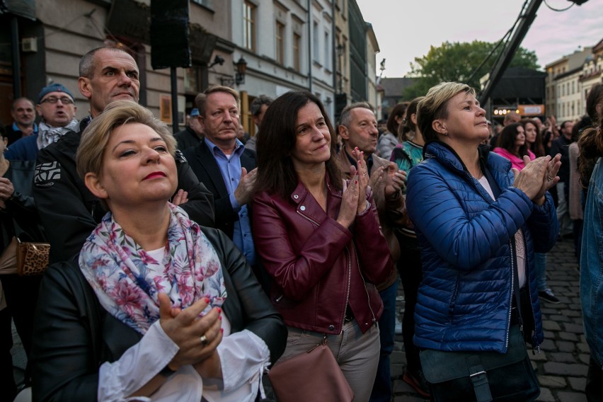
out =
[[[79,267],[112,316],[146,333],[159,319],[158,294],[166,293],[173,307],[185,309],[202,297],[209,306],[226,299],[222,266],[212,243],[198,224],[176,205],[169,204],[170,224],[166,257],[156,261],[128,236],[108,212],[88,237]],[[147,268],[163,266],[163,275]]]

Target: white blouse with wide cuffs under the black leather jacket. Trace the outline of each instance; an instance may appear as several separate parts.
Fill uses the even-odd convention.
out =
[[[163,260],[165,248],[149,252]],[[161,269],[152,264],[149,270]],[[99,401],[182,401],[253,402],[258,395],[264,369],[270,363],[268,345],[248,330],[231,333],[231,324],[222,314],[224,336],[217,347],[223,379],[203,379],[192,365],[182,366],[150,398],[128,397],[147,384],[178,353],[178,345],[156,321],[136,345],[119,360],[101,364],[98,372]],[[201,343],[201,341],[199,341]],[[263,389],[260,390],[263,392]]]

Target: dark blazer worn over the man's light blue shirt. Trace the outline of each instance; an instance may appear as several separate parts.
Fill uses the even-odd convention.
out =
[[[216,217],[214,227],[224,231],[232,239],[234,222],[239,220],[239,214],[232,209],[229,192],[226,189],[224,178],[222,178],[222,173],[214,158],[214,154],[207,147],[205,141],[202,141],[197,147],[183,151],[183,155],[199,181],[214,195]],[[241,166],[246,168],[248,172],[255,168],[255,151],[251,151],[251,149],[243,151],[243,154],[241,154]]]

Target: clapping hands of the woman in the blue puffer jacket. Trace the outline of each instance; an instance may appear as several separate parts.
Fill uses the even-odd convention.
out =
[[[551,156],[541,156],[540,158],[530,161],[528,156],[524,156],[525,168],[519,171],[517,168],[512,168],[515,173],[513,186],[519,188],[536,204],[544,203],[544,194],[553,185],[559,181],[557,173],[561,167],[561,154]]]

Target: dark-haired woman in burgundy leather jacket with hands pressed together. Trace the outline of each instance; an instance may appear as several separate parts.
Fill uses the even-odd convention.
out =
[[[356,149],[357,167],[344,182],[331,122],[307,92],[277,98],[260,131],[252,228],[272,279],[270,299],[289,329],[280,362],[327,336],[354,400],[368,401],[382,310],[373,284],[386,280],[394,265],[362,153]]]

